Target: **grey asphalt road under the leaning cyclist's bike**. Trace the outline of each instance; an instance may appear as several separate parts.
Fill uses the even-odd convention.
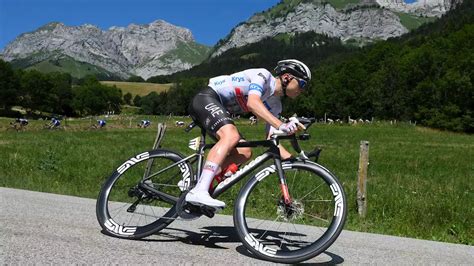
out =
[[[269,264],[252,257],[232,217],[176,221],[146,240],[101,233],[95,200],[0,188],[0,264]],[[474,265],[474,247],[343,231],[315,264]]]

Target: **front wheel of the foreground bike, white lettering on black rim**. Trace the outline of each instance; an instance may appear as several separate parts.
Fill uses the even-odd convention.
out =
[[[271,165],[241,189],[234,224],[240,240],[255,256],[299,263],[321,254],[337,239],[347,216],[346,196],[336,176],[319,164],[295,161],[282,166],[292,205],[285,207],[280,189],[275,192],[279,178]]]

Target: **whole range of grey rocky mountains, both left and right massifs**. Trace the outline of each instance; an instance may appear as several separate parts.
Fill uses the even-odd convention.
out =
[[[216,46],[197,43],[189,29],[163,20],[101,30],[53,22],[24,33],[0,57],[18,68],[66,71],[80,78],[147,79],[191,68],[206,58],[279,34],[316,32],[364,45],[409,32],[459,0],[282,0],[240,23]]]

